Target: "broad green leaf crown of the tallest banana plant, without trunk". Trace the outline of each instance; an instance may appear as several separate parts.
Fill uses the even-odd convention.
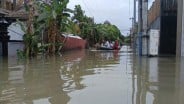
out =
[[[67,26],[71,9],[66,8],[69,0],[52,0],[51,4],[37,2],[38,17],[36,22],[43,25],[42,29],[49,27],[51,21],[56,21],[59,30]],[[45,27],[44,27],[45,26]]]

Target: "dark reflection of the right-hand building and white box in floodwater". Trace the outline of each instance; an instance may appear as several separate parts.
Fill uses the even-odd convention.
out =
[[[183,59],[181,59],[183,60]],[[135,104],[183,104],[184,67],[174,57],[141,58],[135,61]],[[180,82],[181,81],[181,82]],[[179,88],[180,87],[180,88]],[[182,96],[181,96],[182,95]],[[179,102],[180,101],[180,102]]]

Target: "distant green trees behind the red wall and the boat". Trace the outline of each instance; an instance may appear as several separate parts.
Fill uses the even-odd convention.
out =
[[[89,40],[89,45],[100,42],[104,39],[115,41],[121,39],[121,32],[109,21],[104,24],[95,24],[93,18],[87,17],[80,5],[76,5],[74,9],[74,16],[72,20],[79,24],[81,30],[80,36]]]

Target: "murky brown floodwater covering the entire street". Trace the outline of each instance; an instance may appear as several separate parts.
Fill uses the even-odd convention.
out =
[[[90,50],[1,57],[0,104],[184,104],[184,61]]]

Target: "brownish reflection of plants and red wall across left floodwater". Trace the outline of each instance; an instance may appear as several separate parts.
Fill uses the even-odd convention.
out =
[[[106,60],[101,54],[80,50],[27,62],[1,58],[0,103],[67,104],[69,92],[85,88],[82,77],[96,73],[91,69],[116,64],[113,56]]]

